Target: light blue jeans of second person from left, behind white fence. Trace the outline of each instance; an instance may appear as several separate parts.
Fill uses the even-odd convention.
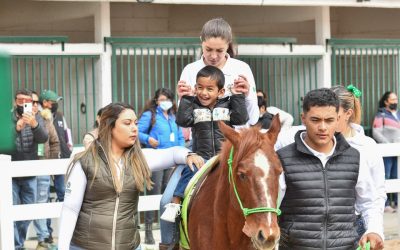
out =
[[[50,176],[42,175],[37,177],[37,203],[47,203],[49,201],[50,189]],[[38,241],[44,241],[49,237],[49,230],[47,229],[47,219],[34,220]]]

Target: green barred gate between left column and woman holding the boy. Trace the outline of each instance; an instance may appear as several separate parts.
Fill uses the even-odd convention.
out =
[[[140,112],[160,87],[175,90],[183,68],[200,57],[195,38],[118,38],[112,45],[112,99]]]

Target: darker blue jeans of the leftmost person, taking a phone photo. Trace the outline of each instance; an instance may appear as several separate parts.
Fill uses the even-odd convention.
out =
[[[36,177],[13,178],[13,204],[33,204],[36,202]],[[24,246],[30,220],[14,222],[14,244],[19,249]]]

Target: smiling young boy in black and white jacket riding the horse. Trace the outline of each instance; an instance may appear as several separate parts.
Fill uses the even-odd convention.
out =
[[[205,66],[197,73],[195,96],[183,96],[176,115],[179,126],[192,128],[193,152],[204,160],[216,155],[221,148],[224,136],[219,130],[218,121],[232,126],[243,125],[249,119],[244,95],[238,94],[233,86],[232,96],[222,98],[224,85],[222,71],[214,66]],[[185,188],[196,172],[195,166],[193,170],[191,166],[186,166],[182,171],[172,203],[167,204],[162,220],[175,222]]]

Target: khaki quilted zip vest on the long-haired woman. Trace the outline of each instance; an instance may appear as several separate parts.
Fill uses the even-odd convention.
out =
[[[129,167],[125,168],[123,188],[118,198],[107,159],[101,147],[98,147],[98,151],[101,156],[100,167],[93,183],[93,157],[86,154],[80,159],[87,186],[71,243],[84,249],[136,249],[140,244],[135,221],[138,216],[139,191],[132,171]]]

